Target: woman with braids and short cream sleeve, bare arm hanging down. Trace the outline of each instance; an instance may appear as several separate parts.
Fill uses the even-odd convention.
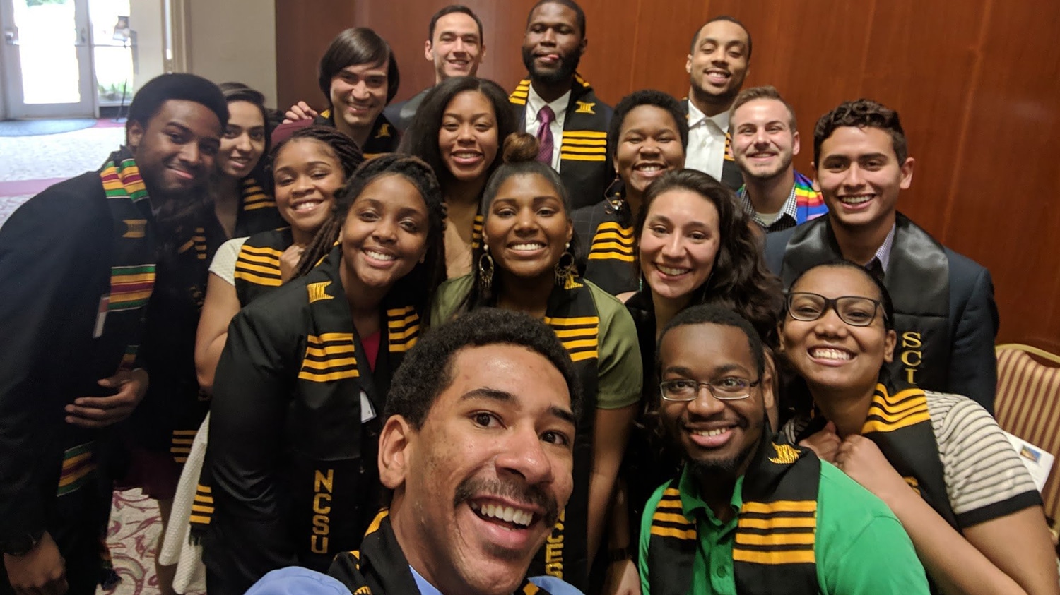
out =
[[[325,223],[335,224],[335,194],[363,161],[349,137],[325,126],[302,128],[272,149],[271,185],[289,227],[235,238],[217,250],[195,340],[195,368],[204,391],[213,391],[214,371],[235,312],[304,275],[320,259],[318,250],[306,248],[314,247]]]

